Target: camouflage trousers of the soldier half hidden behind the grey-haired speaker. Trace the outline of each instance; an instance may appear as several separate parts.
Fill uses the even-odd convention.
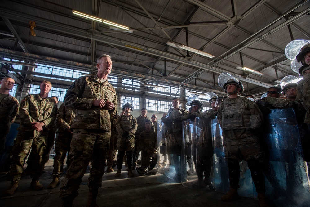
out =
[[[67,152],[67,167],[69,168],[69,152],[71,140],[72,134],[69,132],[60,132],[56,134],[53,176],[59,176],[64,172],[64,159],[66,158]]]

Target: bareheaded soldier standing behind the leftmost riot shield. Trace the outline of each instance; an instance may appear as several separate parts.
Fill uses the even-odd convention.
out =
[[[188,111],[179,107],[179,98],[172,99],[172,108],[168,110],[168,115],[162,117],[162,121],[165,123],[164,130],[166,133],[165,144],[167,146],[178,146],[179,151],[174,154],[170,154],[171,164],[175,165],[176,179],[179,181],[181,178],[181,153],[182,153],[182,115],[187,114]]]

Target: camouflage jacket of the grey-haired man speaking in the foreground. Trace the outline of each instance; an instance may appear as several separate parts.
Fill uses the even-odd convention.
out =
[[[113,102],[114,108],[106,110],[93,106],[94,100],[100,99]],[[64,103],[77,110],[71,128],[111,132],[110,115],[117,111],[116,93],[108,81],[100,83],[97,74],[78,78],[67,90]]]

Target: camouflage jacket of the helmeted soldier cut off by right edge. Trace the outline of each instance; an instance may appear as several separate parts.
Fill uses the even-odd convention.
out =
[[[310,124],[310,74],[306,74],[297,84],[297,100],[303,105],[306,112],[304,123]]]

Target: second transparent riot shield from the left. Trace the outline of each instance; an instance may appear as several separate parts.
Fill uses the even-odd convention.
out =
[[[201,117],[183,123],[182,184],[197,190],[213,191],[213,146],[211,121]]]

